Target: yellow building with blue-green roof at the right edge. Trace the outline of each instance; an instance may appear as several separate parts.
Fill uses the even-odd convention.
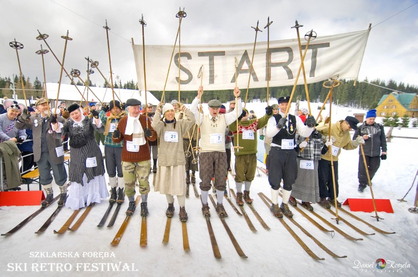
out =
[[[386,94],[382,96],[376,107],[377,116],[403,117],[406,113],[409,117],[418,116],[418,96],[408,93]]]

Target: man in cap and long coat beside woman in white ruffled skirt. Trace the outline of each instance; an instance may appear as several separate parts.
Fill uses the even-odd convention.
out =
[[[55,184],[60,190],[60,199],[58,205],[62,206],[67,200],[67,170],[64,167],[64,149],[62,138],[55,139],[52,135],[50,121],[50,105],[46,98],[40,98],[36,101],[38,114],[30,115],[27,109],[16,121],[18,129],[32,129],[33,135],[33,158],[39,169],[39,182],[47,193],[46,199],[41,203],[42,206],[49,206],[53,200],[52,175]],[[55,117],[54,117],[55,118]],[[56,121],[64,124],[65,119],[56,116]]]

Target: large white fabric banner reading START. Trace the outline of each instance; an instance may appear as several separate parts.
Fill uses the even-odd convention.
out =
[[[308,83],[324,81],[330,77],[356,79],[359,74],[366,49],[370,29],[363,31],[318,36],[311,39],[304,59]],[[302,53],[307,41],[301,37]],[[138,86],[145,89],[143,47],[132,45],[135,58]],[[258,42],[255,47],[253,70],[250,77],[251,58],[254,43],[226,45],[181,45],[180,72],[179,46],[145,45],[145,64],[147,90],[180,89],[197,90],[201,79],[199,71],[203,65],[202,84],[205,90],[233,89],[235,72],[237,86],[246,88],[250,79],[250,88],[293,85],[301,64],[297,39]],[[236,62],[235,62],[236,60]],[[170,69],[169,69],[170,65]],[[303,84],[300,73],[298,84]]]

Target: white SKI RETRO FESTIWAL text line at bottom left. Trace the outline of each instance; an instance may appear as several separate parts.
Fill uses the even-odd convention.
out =
[[[69,272],[69,271],[91,271],[91,272],[128,272],[139,271],[134,263],[8,263],[8,272]]]

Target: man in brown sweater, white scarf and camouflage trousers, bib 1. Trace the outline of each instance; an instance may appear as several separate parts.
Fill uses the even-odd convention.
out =
[[[141,101],[128,99],[128,116],[123,117],[113,132],[114,142],[124,141],[122,149],[122,171],[125,182],[125,194],[129,199],[128,216],[135,211],[135,183],[139,183],[141,194],[141,216],[148,215],[147,198],[150,192],[148,176],[151,168],[151,153],[148,141],[157,139],[157,133],[151,127],[149,118],[140,114]],[[148,124],[147,124],[148,121]]]

